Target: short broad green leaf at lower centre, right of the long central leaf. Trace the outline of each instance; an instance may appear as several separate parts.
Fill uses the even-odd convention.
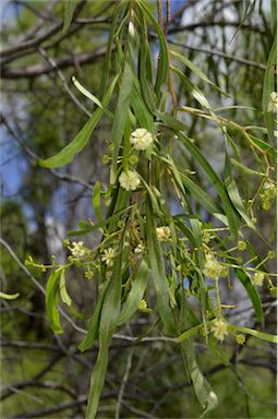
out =
[[[143,299],[147,286],[148,273],[149,268],[147,263],[143,260],[134,278],[133,286],[125,301],[123,310],[118,319],[118,325],[126,323],[138,310],[140,301]]]

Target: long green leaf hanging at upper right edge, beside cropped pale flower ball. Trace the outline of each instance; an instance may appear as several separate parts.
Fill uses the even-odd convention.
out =
[[[275,129],[275,113],[268,112],[268,104],[270,100],[270,93],[275,92],[275,77],[276,77],[276,61],[277,61],[277,38],[274,39],[274,44],[267,60],[264,88],[263,88],[263,112],[265,117],[265,123],[268,131],[268,137],[274,141],[274,129]]]

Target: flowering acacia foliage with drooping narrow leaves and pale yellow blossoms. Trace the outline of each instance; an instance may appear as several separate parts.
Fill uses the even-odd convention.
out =
[[[64,3],[63,36],[71,31],[71,22],[82,5],[83,2]],[[245,24],[251,12],[252,8],[245,10],[238,26]],[[244,345],[246,335],[276,342],[253,324],[231,322],[234,307],[226,292],[227,285],[229,288],[241,283],[261,323],[263,309],[257,287],[266,284],[273,294],[276,289],[275,274],[266,266],[273,252],[262,255],[254,249],[257,240],[266,239],[256,227],[256,218],[262,210],[271,207],[276,190],[276,41],[271,39],[268,50],[262,108],[249,108],[243,100],[244,105],[235,100],[230,106],[237,86],[230,92],[219,74],[218,81],[211,81],[183,52],[182,43],[168,36],[170,17],[168,1],[158,1],[158,21],[147,2],[113,4],[98,95],[73,79],[77,89],[94,103],[95,110],[72,142],[53,157],[39,160],[40,166],[51,170],[70,164],[78,158],[76,155],[90,141],[101,118],[107,123],[111,142],[102,161],[109,166],[109,180],[95,181],[94,220],[82,220],[77,230],[69,232],[64,240],[70,253],[67,263],[53,259],[52,263],[41,264],[32,256],[26,261],[32,270],[50,272],[46,289],[41,290],[53,333],[63,333],[62,314],[75,330],[85,332],[78,345],[81,351],[98,343],[87,418],[97,414],[112,338],[124,325],[131,333],[132,319],[138,312],[149,318],[152,328],[142,332],[134,327],[141,337],[130,335],[130,340],[144,342],[148,338],[145,335],[156,327],[161,342],[179,345],[204,414],[216,407],[217,395],[198,367],[194,340],[202,342],[226,366],[231,362],[221,349],[226,339]],[[57,27],[60,31],[62,24]],[[19,48],[10,53],[19,53]],[[47,59],[49,71],[58,69],[59,60],[49,58],[44,48],[40,53]],[[35,70],[40,74],[46,71]],[[9,73],[11,76],[16,70],[8,68],[3,72],[5,77]],[[215,92],[209,101],[208,92]],[[222,103],[225,106],[218,106]],[[238,109],[247,112],[244,124],[234,113]],[[221,159],[207,158],[202,149],[206,136],[211,141],[209,129],[216,146],[221,148]],[[244,173],[243,184],[239,173]],[[80,236],[87,240],[86,246],[77,241]],[[95,244],[86,237],[93,237]],[[68,292],[72,270],[94,284],[95,303],[87,323]],[[82,325],[59,308],[60,300]],[[84,331],[85,324],[88,331]],[[125,381],[123,378],[121,388]],[[122,396],[118,400],[119,417]]]

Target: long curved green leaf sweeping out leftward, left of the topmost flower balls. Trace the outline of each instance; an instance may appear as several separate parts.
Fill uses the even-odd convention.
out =
[[[109,86],[109,89],[104,96],[102,104],[105,107],[109,104],[111,99],[117,81],[118,75],[113,79],[112,83]],[[89,120],[85,123],[83,129],[78,132],[78,134],[73,139],[70,144],[68,144],[53,157],[47,158],[46,160],[39,159],[39,165],[44,167],[55,168],[71,163],[75,154],[80,153],[85,147],[89,136],[92,135],[94,129],[99,122],[102,113],[104,110],[101,108],[96,109]]]

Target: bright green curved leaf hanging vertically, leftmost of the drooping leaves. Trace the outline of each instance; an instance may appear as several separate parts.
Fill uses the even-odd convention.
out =
[[[46,286],[46,312],[56,335],[63,333],[58,311],[58,280],[62,274],[61,268],[51,272]]]

